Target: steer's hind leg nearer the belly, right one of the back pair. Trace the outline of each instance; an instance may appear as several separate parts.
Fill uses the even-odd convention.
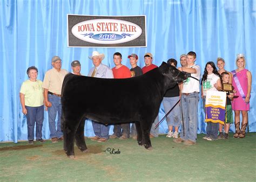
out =
[[[75,142],[76,142],[78,148],[82,152],[89,152],[89,150],[87,149],[87,146],[85,144],[85,141],[84,141],[84,123],[85,123],[85,118],[83,118],[80,121],[80,124],[78,125],[77,131],[75,134]]]

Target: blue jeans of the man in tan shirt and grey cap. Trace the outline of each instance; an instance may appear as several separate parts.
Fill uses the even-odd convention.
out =
[[[62,103],[60,102],[60,97],[56,95],[48,94],[48,101],[51,102],[51,107],[48,108],[49,117],[49,128],[50,128],[50,138],[60,138],[63,136],[62,130],[60,128],[60,121],[62,116]],[[56,130],[56,116],[58,113],[58,122]]]

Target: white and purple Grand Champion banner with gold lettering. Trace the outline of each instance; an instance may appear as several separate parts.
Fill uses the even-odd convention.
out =
[[[206,91],[205,122],[224,124],[226,96],[226,92]]]

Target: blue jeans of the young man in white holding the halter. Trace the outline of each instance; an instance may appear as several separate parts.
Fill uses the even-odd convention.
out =
[[[191,93],[189,95],[181,95],[181,105],[183,109],[184,125],[181,122],[180,138],[189,139],[196,142],[197,138],[197,123],[198,123],[198,93]],[[183,132],[185,130],[185,136]]]

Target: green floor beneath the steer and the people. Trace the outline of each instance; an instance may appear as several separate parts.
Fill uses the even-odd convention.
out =
[[[256,181],[256,133],[227,141],[203,136],[186,146],[161,135],[152,138],[151,151],[133,139],[86,139],[90,153],[76,147],[75,160],[63,142],[0,143],[0,181]]]

